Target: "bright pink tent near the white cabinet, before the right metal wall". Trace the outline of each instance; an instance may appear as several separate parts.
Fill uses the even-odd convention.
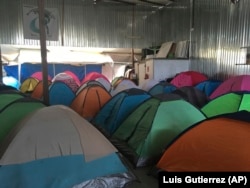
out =
[[[170,82],[176,87],[195,86],[200,82],[208,80],[207,76],[196,71],[185,71],[176,75]]]

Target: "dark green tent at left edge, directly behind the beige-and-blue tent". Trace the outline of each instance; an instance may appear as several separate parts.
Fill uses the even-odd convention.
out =
[[[0,101],[2,99],[0,98]],[[0,110],[0,143],[25,116],[46,105],[29,97],[16,99]]]

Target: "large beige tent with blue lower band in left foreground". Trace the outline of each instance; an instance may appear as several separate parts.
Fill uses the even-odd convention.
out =
[[[27,116],[0,151],[3,188],[119,188],[134,180],[117,149],[63,105]]]

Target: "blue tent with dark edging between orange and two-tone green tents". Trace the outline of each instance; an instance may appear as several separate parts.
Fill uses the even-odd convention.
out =
[[[150,98],[146,91],[138,88],[131,88],[112,97],[100,109],[96,116],[91,120],[91,123],[103,131],[107,136],[120,126],[121,122],[133,110],[146,99]]]

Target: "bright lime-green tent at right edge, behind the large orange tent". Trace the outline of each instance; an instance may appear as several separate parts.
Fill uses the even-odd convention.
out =
[[[227,93],[212,99],[201,108],[207,117],[233,113],[241,110],[250,111],[250,93]]]

